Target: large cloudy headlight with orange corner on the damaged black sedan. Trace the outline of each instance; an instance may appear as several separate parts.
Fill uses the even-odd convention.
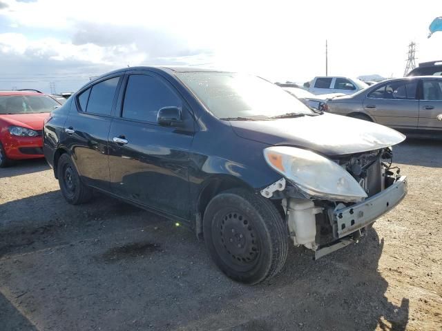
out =
[[[367,193],[337,163],[301,148],[276,146],[264,150],[267,163],[311,197],[362,201]]]

